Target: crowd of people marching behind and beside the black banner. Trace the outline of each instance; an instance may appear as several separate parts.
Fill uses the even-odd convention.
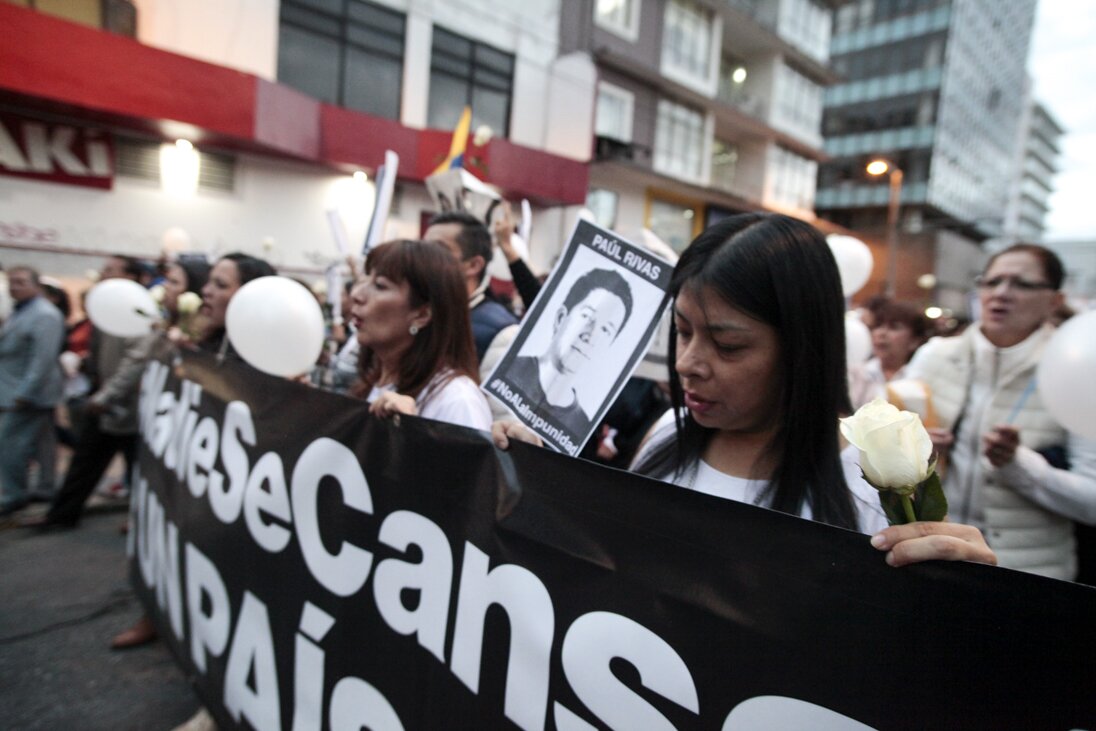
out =
[[[530,302],[540,282],[509,245],[511,230],[506,213],[495,243]],[[310,380],[362,399],[381,418],[490,430],[501,448],[515,438],[538,443],[478,388],[521,322],[489,286],[492,245],[482,221],[446,213],[423,240],[374,248],[346,287],[349,318],[332,323],[331,346]],[[140,262],[112,256],[100,276],[141,281],[148,273]],[[163,325],[117,338],[83,320],[67,323],[44,277],[9,269],[14,307],[0,329],[0,513],[14,515],[44,496],[48,510],[20,524],[75,527],[115,455],[134,459],[138,380],[156,339],[165,333],[181,347],[237,357],[226,334],[228,304],[243,284],[274,273],[240,253],[163,262],[156,272]],[[1096,445],[1058,424],[1031,388],[1062,281],[1061,262],[1044,248],[997,253],[974,283],[980,319],[949,338],[929,339],[929,322],[913,305],[876,300],[865,311],[872,357],[849,365],[845,300],[823,236],[780,215],[728,218],[700,233],[674,270],[666,380],[631,379],[603,423],[584,425],[594,436],[582,457],[869,534],[893,566],[1000,561],[1073,580],[1074,525],[1096,523]],[[197,312],[182,311],[186,293],[201,296]],[[630,304],[620,301],[618,319],[626,320]],[[560,322],[568,307],[576,304],[564,302]],[[529,359],[533,373],[552,363],[551,353]],[[949,521],[887,525],[837,429],[840,416],[875,398],[918,411],[931,427]],[[64,438],[73,453],[54,489],[53,455],[42,446],[52,443],[45,434],[55,434],[65,403],[75,438]],[[27,482],[32,464],[36,487]],[[153,637],[144,620],[116,646]]]

